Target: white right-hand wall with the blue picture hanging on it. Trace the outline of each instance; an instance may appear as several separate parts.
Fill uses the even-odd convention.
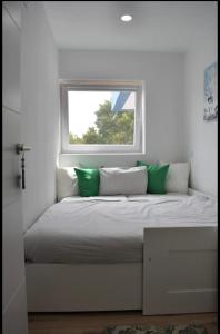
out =
[[[209,14],[209,29],[186,55],[184,157],[191,161],[191,187],[217,196],[218,122],[203,121],[204,68],[217,61],[217,4]]]

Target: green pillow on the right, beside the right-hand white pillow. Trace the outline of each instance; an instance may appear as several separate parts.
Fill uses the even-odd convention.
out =
[[[147,164],[137,161],[137,166],[146,166],[148,171],[148,188],[149,194],[166,194],[166,178],[169,165]]]

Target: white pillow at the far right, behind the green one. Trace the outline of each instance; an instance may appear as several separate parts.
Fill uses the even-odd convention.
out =
[[[189,163],[164,163],[160,161],[160,165],[170,164],[168,175],[166,179],[166,190],[168,193],[188,194],[189,186]]]

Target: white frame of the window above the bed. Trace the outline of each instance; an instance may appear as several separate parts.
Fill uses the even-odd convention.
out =
[[[68,91],[136,91],[133,144],[69,144]],[[143,154],[144,153],[144,104],[141,80],[60,80],[61,154]]]

